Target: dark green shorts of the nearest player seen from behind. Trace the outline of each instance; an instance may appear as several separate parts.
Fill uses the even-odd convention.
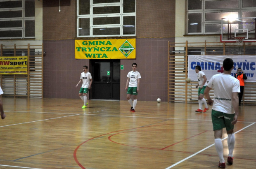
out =
[[[221,130],[226,128],[227,131],[234,129],[234,125],[231,124],[235,117],[234,114],[222,113],[220,111],[211,110],[211,121],[213,123],[213,130]]]

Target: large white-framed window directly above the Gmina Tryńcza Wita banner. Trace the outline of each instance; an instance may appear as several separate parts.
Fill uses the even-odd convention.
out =
[[[136,35],[135,0],[77,0],[77,37]]]

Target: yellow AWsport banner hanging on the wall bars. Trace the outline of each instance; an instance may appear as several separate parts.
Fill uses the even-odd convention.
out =
[[[28,74],[28,57],[0,57],[0,74]]]

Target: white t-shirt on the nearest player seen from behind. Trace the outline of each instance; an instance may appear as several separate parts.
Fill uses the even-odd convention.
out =
[[[214,102],[212,109],[223,113],[234,114],[232,93],[240,93],[239,80],[230,74],[215,74],[210,79],[209,88],[214,88]]]

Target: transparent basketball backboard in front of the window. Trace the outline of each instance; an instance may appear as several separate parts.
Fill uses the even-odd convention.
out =
[[[235,37],[244,37],[244,42],[256,42],[256,17],[221,19],[220,42],[233,42]]]

